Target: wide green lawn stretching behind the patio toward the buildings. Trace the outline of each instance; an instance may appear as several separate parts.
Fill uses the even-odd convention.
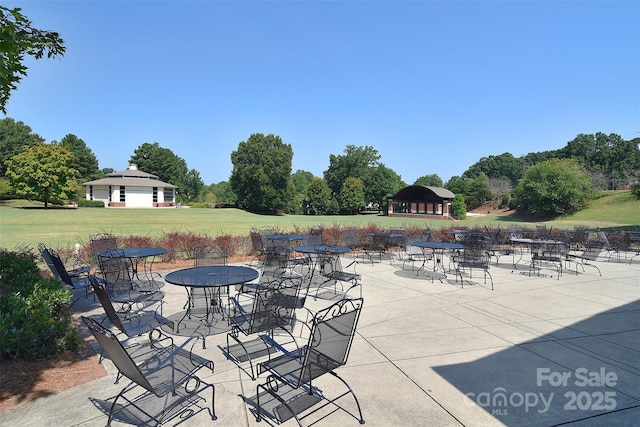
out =
[[[513,216],[468,216],[464,221],[425,220],[421,218],[395,218],[381,215],[305,216],[256,215],[239,209],[25,209],[40,204],[25,201],[0,203],[0,247],[14,249],[38,242],[54,247],[87,243],[89,236],[110,232],[116,236],[159,237],[170,231],[192,232],[217,236],[248,235],[251,227],[274,226],[281,231],[296,227],[306,229],[313,225],[366,226],[381,228],[421,226],[434,229],[456,226],[502,226],[522,224],[533,227]],[[640,227],[640,202],[629,191],[607,192],[594,200],[587,209],[574,215],[546,221],[548,226],[572,229],[575,225],[590,227]]]

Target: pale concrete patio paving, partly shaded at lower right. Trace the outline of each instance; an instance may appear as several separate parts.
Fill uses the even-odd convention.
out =
[[[431,282],[430,274],[402,270],[397,259],[357,265],[364,308],[349,362],[337,372],[358,396],[367,425],[638,424],[640,257],[633,264],[596,261],[602,277],[586,266],[578,274],[566,270],[559,280],[555,270],[529,276],[526,262],[514,270],[510,261],[491,266],[493,291],[477,272],[462,288],[453,273]],[[181,310],[184,290],[169,284],[163,290],[164,313]],[[318,309],[330,301],[308,303]],[[102,310],[91,298],[82,304],[89,314]],[[218,347],[224,342],[224,334],[211,335],[198,350],[215,362],[204,379],[216,386],[218,418],[212,422],[205,411],[183,425],[272,424],[257,423],[251,404],[264,379],[251,381],[226,360]],[[8,409],[0,424],[105,425],[96,402],[115,396],[126,381],[114,384],[113,365],[103,363],[107,377]],[[316,385],[328,396],[342,390],[334,378]],[[339,404],[356,411],[349,396]],[[358,424],[344,411],[327,412],[305,423]],[[129,425],[123,421],[112,425]]]

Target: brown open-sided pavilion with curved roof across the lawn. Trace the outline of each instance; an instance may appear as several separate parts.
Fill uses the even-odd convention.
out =
[[[446,188],[409,185],[389,198],[389,216],[425,216],[452,219],[451,201],[455,194]]]

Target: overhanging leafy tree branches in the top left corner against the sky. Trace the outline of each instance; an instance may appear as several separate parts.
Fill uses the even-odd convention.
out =
[[[47,58],[53,58],[63,56],[66,49],[58,33],[33,28],[21,10],[0,6],[0,110],[4,114],[7,114],[11,91],[17,89],[22,77],[27,75],[24,56],[40,59],[46,53]]]

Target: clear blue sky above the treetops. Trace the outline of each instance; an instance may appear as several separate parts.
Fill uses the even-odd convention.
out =
[[[64,57],[28,60],[7,105],[100,168],[157,142],[226,181],[253,133],[322,176],[373,146],[412,184],[481,157],[640,136],[638,1],[30,1]]]

